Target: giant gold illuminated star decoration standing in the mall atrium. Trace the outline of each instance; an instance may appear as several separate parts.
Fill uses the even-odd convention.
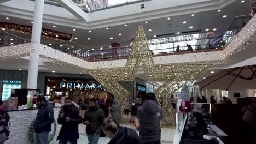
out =
[[[167,81],[164,85],[156,89],[155,94],[157,100],[162,100],[163,102],[164,124],[169,127],[176,123],[176,110],[172,109],[170,95],[182,87],[184,81],[193,80],[202,71],[211,66],[211,64],[155,65],[144,29],[142,26],[139,26],[134,45],[132,46],[124,69],[97,69],[88,70],[88,73],[112,93],[119,101],[122,109],[124,109],[130,93],[118,81],[135,80],[140,64],[142,64],[148,79]]]

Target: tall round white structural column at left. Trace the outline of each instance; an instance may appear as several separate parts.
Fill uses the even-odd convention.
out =
[[[31,42],[40,43],[41,41],[43,11],[44,11],[44,1],[36,0],[34,4],[34,20],[33,20]],[[39,49],[38,47],[34,47],[33,52],[30,54],[30,64],[28,67],[28,77],[27,77],[27,88],[30,88],[30,89],[37,89],[38,61],[39,61],[38,49]]]

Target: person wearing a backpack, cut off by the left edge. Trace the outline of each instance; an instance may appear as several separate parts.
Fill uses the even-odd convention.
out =
[[[0,99],[0,144],[3,144],[9,139],[8,122],[10,121],[10,116],[4,107],[2,107],[2,104],[3,101]]]

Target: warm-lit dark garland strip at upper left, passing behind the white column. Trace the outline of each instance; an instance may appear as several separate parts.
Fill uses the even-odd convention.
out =
[[[31,26],[24,26],[24,25],[17,25],[14,23],[6,23],[0,22],[0,28],[4,28],[7,31],[14,32],[14,33],[21,33],[21,34],[29,34],[32,33]],[[72,41],[73,36],[72,34],[51,31],[49,29],[42,29],[42,35],[45,38],[50,38],[59,41]]]

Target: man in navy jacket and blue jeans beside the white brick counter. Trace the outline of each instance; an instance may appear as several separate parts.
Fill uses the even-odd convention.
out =
[[[48,135],[51,131],[51,124],[54,122],[53,106],[46,102],[44,95],[37,98],[39,110],[34,122],[35,144],[48,144]]]

